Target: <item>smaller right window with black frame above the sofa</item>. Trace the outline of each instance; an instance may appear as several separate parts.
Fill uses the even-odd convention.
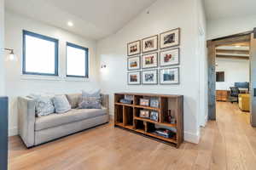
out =
[[[67,42],[67,77],[88,77],[88,48]]]

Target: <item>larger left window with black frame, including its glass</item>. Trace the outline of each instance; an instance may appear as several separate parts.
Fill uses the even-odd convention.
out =
[[[59,41],[23,31],[23,74],[58,76]]]

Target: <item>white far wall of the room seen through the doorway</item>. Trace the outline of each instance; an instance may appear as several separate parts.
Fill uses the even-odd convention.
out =
[[[224,82],[216,82],[217,90],[230,90],[235,82],[250,82],[250,61],[247,59],[216,59],[216,71],[224,71]]]

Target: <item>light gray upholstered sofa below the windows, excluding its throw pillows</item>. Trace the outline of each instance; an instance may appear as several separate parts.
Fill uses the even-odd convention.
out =
[[[64,114],[36,116],[35,100],[29,97],[18,98],[19,134],[26,144],[32,147],[68,134],[109,122],[108,94],[102,94],[102,109],[75,109],[81,94],[66,94],[72,110]]]

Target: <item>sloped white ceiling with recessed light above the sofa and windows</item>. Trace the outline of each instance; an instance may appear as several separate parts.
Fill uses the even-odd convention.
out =
[[[5,0],[9,11],[101,39],[119,31],[156,0]],[[68,27],[67,21],[74,26]]]

